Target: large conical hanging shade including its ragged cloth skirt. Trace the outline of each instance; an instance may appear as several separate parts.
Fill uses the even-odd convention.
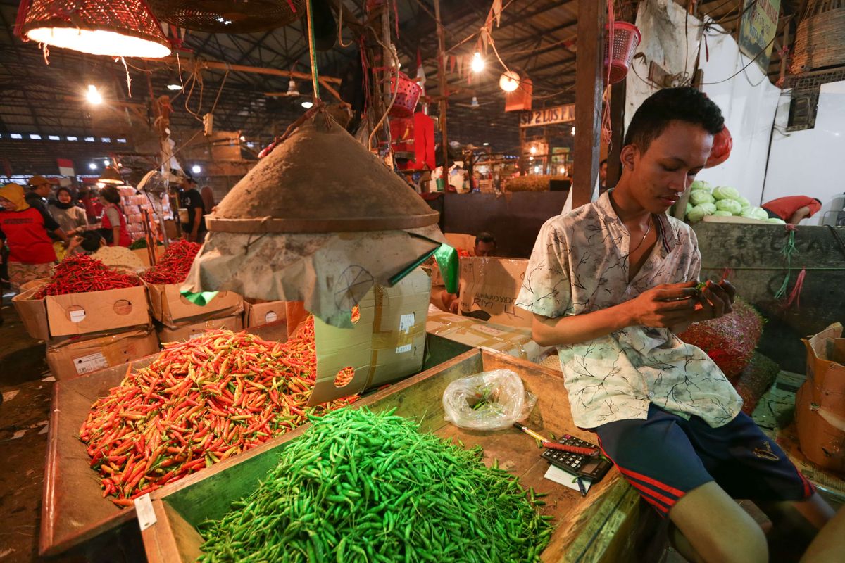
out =
[[[439,214],[314,107],[207,215],[185,294],[304,301],[351,327],[374,284],[393,285],[445,243]]]

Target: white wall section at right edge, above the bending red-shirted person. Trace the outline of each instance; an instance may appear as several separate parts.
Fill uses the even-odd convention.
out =
[[[820,213],[801,225],[821,225],[825,217],[831,223],[836,214],[826,215],[826,211],[842,210],[845,192],[845,81],[821,85],[814,128],[787,133],[788,116],[785,93],[777,107],[763,200],[796,195],[819,198]]]

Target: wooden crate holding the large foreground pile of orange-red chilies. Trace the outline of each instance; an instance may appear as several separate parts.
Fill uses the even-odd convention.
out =
[[[249,328],[248,332],[267,340],[285,341],[287,338],[285,322]],[[423,369],[470,349],[465,344],[437,336],[428,338],[427,348]],[[133,369],[150,365],[156,356],[157,354],[149,355],[135,360],[132,362]],[[129,530],[130,535],[137,533],[134,507],[120,509],[111,501],[102,498],[99,475],[90,468],[90,457],[85,451],[85,444],[77,437],[79,427],[88,416],[91,404],[106,395],[111,387],[117,386],[126,376],[126,372],[127,366],[118,365],[56,382],[53,386],[44,500],[41,506],[41,555],[63,554],[72,548],[75,548],[74,551],[83,548],[87,550],[94,544],[108,547],[109,543],[104,539],[114,536],[117,528],[125,529],[127,522],[133,528]],[[275,438],[265,446],[277,444],[280,439],[281,437]],[[166,487],[161,490],[165,489]]]

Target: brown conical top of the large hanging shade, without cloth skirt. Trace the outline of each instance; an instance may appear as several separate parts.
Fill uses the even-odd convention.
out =
[[[439,214],[361,143],[317,111],[206,217],[210,231],[330,233],[434,225]]]

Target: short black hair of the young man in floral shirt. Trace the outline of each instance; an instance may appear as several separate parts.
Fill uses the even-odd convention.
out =
[[[645,152],[651,141],[674,121],[700,125],[711,135],[725,127],[722,110],[706,95],[690,86],[667,88],[649,96],[637,109],[625,132],[624,143],[635,144]]]

